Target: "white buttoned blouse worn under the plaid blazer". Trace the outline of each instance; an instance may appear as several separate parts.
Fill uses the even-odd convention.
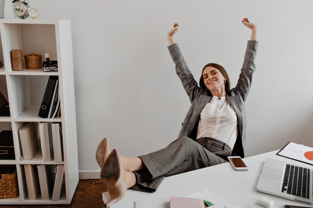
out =
[[[200,113],[196,138],[210,137],[231,149],[237,138],[237,116],[226,97],[213,96]]]

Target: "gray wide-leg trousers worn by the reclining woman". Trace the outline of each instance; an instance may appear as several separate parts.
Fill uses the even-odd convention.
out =
[[[136,185],[130,189],[155,192],[167,176],[225,163],[230,155],[230,147],[218,140],[181,137],[164,149],[139,156],[146,170],[133,172]]]

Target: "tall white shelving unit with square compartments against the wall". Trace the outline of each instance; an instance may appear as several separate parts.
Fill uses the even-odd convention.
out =
[[[0,160],[3,165],[16,166],[17,198],[0,199],[0,205],[70,204],[78,184],[78,157],[72,43],[70,20],[0,19],[0,89],[7,96],[10,116],[0,117],[0,131],[12,130],[15,160]],[[58,71],[42,69],[12,70],[10,51],[22,50],[23,55],[49,53],[57,60]],[[43,61],[43,60],[42,60]],[[60,115],[47,119],[38,117],[39,107],[50,75],[59,79]],[[4,89],[4,90],[3,90]],[[62,128],[63,162],[43,162],[40,154],[31,160],[22,160],[18,129],[25,122],[60,122]],[[39,158],[38,158],[39,157]],[[28,200],[23,166],[64,165],[65,193],[59,201]]]

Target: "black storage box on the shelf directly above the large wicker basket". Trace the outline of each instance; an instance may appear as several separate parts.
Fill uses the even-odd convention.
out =
[[[0,160],[15,160],[12,131],[0,132]]]

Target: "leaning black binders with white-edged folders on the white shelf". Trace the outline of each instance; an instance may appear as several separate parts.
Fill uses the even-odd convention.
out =
[[[55,118],[60,114],[60,96],[58,76],[49,76],[38,116],[41,118]]]

